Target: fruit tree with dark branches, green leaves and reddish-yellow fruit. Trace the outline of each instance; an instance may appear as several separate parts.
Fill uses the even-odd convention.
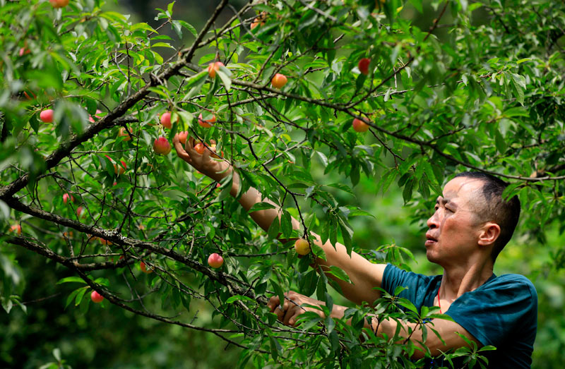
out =
[[[269,296],[295,289],[331,306],[333,279],[348,280],[339,268],[311,269],[320,250],[298,258],[287,240],[315,231],[359,251],[350,219],[369,214],[336,194],[375,178],[374,193],[400,190],[422,222],[448,176],[465,170],[511,182],[524,237],[543,240],[552,222],[564,231],[565,6],[230,2],[197,30],[174,3],[152,27],[101,0],[0,1],[4,310],[26,309],[14,256],[24,248],[68,270],[66,306],[85,313],[102,301],[215,334],[239,347],[240,366],[424,365],[410,361],[410,341],[362,329],[374,315],[422,324],[439,315],[394,296],[344,320],[307,313],[297,327],[280,325]],[[184,131],[215,143],[242,191],[280,204],[280,222],[258,229],[229,178],[215,183],[169,152]],[[563,250],[552,252],[564,265]],[[410,251],[375,245],[366,256],[403,265]],[[213,325],[194,323],[195,302]],[[446,353],[456,356],[473,365],[480,352]]]

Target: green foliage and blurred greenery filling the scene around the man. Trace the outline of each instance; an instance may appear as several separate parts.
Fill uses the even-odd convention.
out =
[[[381,9],[372,1],[230,4],[244,11],[234,17],[224,7],[193,50],[206,22],[187,23],[186,4],[163,4],[150,13],[156,20],[144,12],[132,20],[120,4],[101,1],[71,0],[56,11],[47,1],[0,0],[1,365],[35,368],[57,358],[73,367],[342,364],[340,350],[325,338],[328,322],[312,319],[311,336],[278,332],[261,304],[279,289],[310,291],[304,262],[273,240],[279,231],[299,234],[285,222],[265,234],[227,195],[229,183],[215,190],[176,155],[153,154],[157,135],[189,130],[218,140],[246,183],[324,238],[426,274],[440,272],[423,248],[436,191],[458,171],[506,176],[523,215],[495,273],[521,273],[534,282],[533,367],[563,368],[565,6],[541,0],[391,0]],[[249,32],[261,11],[266,25]],[[213,8],[198,18],[211,14]],[[226,22],[231,27],[222,28]],[[210,80],[201,68],[216,57],[227,68]],[[372,61],[367,77],[355,69],[361,57]],[[289,76],[282,92],[268,89],[275,71]],[[143,98],[133,98],[149,84]],[[47,107],[55,109],[54,124],[38,119]],[[96,109],[103,111],[100,120],[88,123]],[[172,131],[155,126],[167,109],[180,119]],[[218,114],[210,130],[195,119],[206,109]],[[354,116],[371,122],[371,131],[353,132]],[[117,138],[126,124],[135,136],[129,142]],[[116,176],[105,155],[124,159],[126,174]],[[66,192],[77,202],[63,204]],[[88,215],[76,216],[79,205]],[[9,232],[11,224],[21,224],[23,234]],[[89,242],[88,235],[113,244]],[[168,248],[187,259],[165,257]],[[71,250],[102,256],[81,261],[95,263],[81,272],[54,262],[54,254],[69,258]],[[206,267],[211,252],[225,255],[222,271],[237,283]],[[127,261],[116,264],[122,254]],[[141,273],[139,260],[157,271]],[[57,283],[78,276],[90,286]],[[88,298],[94,283],[109,293],[100,306]],[[245,293],[260,302],[227,302],[243,295],[242,283],[252,284]],[[323,279],[314,287],[313,296],[347,304]],[[82,292],[77,298],[73,291]],[[216,333],[232,343],[200,328],[230,329]],[[348,336],[339,322],[333,332],[358,336]],[[304,342],[296,344],[299,339]],[[370,354],[376,358],[365,365],[412,365],[401,355],[410,345],[398,352],[382,341],[375,346],[382,351],[342,351],[345,365]]]

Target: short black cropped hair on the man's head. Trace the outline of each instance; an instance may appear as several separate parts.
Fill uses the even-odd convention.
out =
[[[506,243],[512,238],[518,219],[520,218],[520,200],[514,195],[508,200],[502,198],[502,192],[509,183],[502,181],[495,176],[481,171],[465,171],[457,174],[454,178],[465,177],[472,179],[480,179],[483,181],[482,195],[484,197],[484,205],[478,205],[480,213],[477,214],[484,222],[494,222],[500,226],[500,236],[494,242],[492,248],[492,261],[496,260]]]

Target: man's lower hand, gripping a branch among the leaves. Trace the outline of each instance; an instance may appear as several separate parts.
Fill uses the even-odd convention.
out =
[[[309,308],[307,306],[302,306],[303,304],[309,304],[313,306],[323,306],[326,303],[323,301],[314,300],[314,298],[309,298],[308,296],[301,295],[295,291],[289,291],[285,294],[285,301],[283,303],[283,309],[280,308],[280,298],[278,296],[273,296],[267,303],[267,307],[270,308],[271,313],[277,315],[278,320],[283,322],[284,325],[290,325],[292,327],[296,326],[298,317],[307,311],[313,311],[314,313],[324,317],[322,310],[316,308]]]

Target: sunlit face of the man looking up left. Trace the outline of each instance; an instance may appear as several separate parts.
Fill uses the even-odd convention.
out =
[[[477,250],[480,222],[477,210],[482,200],[480,179],[458,177],[444,187],[428,219],[426,255],[442,267],[465,265]]]

